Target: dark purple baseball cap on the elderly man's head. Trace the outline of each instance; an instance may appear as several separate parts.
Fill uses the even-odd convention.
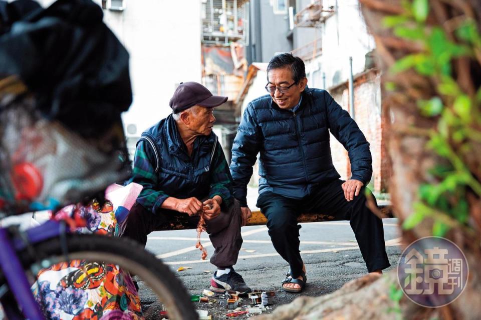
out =
[[[179,113],[194,105],[214,107],[227,101],[226,96],[213,95],[200,83],[180,82],[170,98],[169,105],[174,113]]]

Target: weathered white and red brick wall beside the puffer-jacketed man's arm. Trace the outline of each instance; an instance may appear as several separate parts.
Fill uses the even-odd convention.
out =
[[[370,143],[373,174],[372,188],[387,191],[389,162],[385,147],[385,125],[388,123],[381,112],[380,75],[377,71],[369,71],[354,80],[354,118]],[[349,89],[347,83],[330,90],[334,99],[349,112]],[[352,115],[351,115],[352,116]],[[331,152],[334,166],[341,178],[351,175],[349,157],[343,145],[331,135]]]

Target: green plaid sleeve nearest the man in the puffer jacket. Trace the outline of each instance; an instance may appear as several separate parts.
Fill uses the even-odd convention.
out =
[[[226,207],[232,203],[232,176],[230,175],[229,166],[225,160],[224,152],[220,143],[215,146],[214,157],[211,164],[211,183],[209,198],[219,195],[222,198],[222,204]]]

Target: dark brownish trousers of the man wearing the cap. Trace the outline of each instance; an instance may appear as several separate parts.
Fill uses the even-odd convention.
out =
[[[147,235],[155,231],[158,225],[173,220],[175,215],[182,215],[183,218],[186,218],[192,228],[195,229],[197,226],[199,216],[189,216],[166,209],[159,210],[156,214],[153,214],[136,202],[130,210],[127,225],[122,236],[134,239],[145,246]],[[214,247],[210,263],[220,268],[234,265],[237,262],[237,256],[243,241],[240,235],[242,214],[239,202],[234,200],[234,203],[226,211],[221,211],[218,216],[205,222],[205,229]],[[192,232],[195,232],[195,230]]]

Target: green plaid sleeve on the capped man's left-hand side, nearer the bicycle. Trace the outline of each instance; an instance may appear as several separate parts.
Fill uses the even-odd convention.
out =
[[[147,210],[155,213],[164,200],[169,197],[162,190],[157,190],[157,173],[151,163],[154,162],[154,153],[150,145],[145,141],[140,141],[134,155],[134,168],[132,171],[132,181],[143,186],[142,191],[137,197],[137,202]]]

